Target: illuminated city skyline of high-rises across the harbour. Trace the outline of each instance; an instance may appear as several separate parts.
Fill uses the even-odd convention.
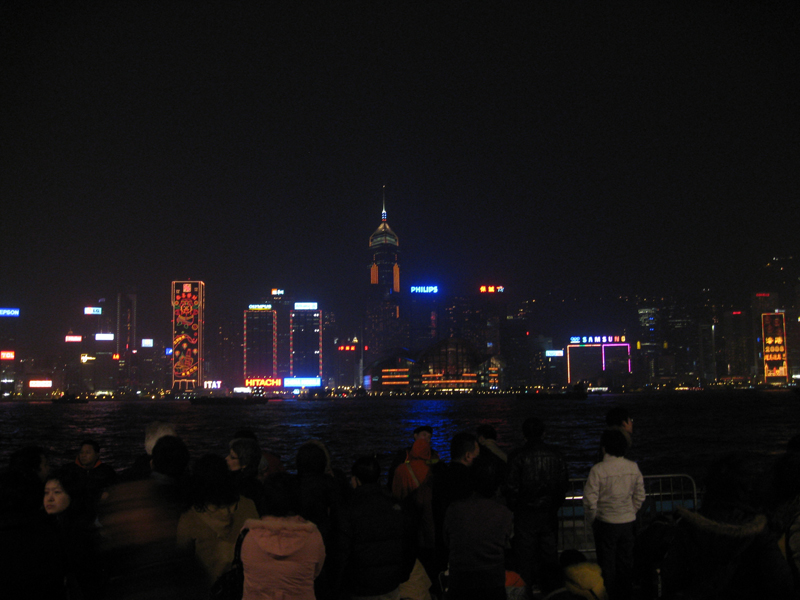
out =
[[[353,265],[368,281],[353,331],[343,330],[324,301],[281,288],[243,302],[239,320],[210,321],[214,290],[175,280],[171,335],[142,335],[137,294],[120,292],[85,306],[79,327],[63,333],[48,362],[19,349],[25,308],[0,308],[0,393],[72,401],[537,393],[788,385],[800,377],[800,278],[792,258],[765,265],[747,305],[625,297],[615,300],[622,314],[615,325],[598,319],[562,333],[565,315],[578,307],[558,313],[553,308],[563,300],[512,300],[496,281],[466,293],[415,281],[413,273],[407,282],[400,248],[384,196],[364,263]]]

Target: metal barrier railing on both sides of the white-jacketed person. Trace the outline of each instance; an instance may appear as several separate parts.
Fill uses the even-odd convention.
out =
[[[570,479],[569,483],[567,499],[558,511],[558,549],[575,548],[584,554],[593,554],[592,528],[583,518],[583,487],[586,479]],[[659,515],[668,515],[680,506],[690,510],[697,507],[697,485],[689,475],[647,475],[644,488],[647,498],[638,515],[643,524]]]

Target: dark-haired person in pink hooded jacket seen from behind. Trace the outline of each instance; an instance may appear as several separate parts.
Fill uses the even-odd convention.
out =
[[[268,514],[248,519],[242,542],[243,600],[316,600],[314,580],[325,562],[317,526],[294,514],[292,476],[267,483]]]

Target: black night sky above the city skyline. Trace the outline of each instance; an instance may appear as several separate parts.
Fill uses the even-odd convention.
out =
[[[129,287],[164,327],[184,278],[353,311],[384,185],[404,287],[746,287],[798,253],[794,3],[73,4],[0,13],[0,306],[53,340]]]

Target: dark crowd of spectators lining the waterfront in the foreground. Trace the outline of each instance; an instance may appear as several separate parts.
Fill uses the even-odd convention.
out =
[[[195,459],[171,425],[152,423],[145,453],[119,471],[91,439],[61,466],[26,446],[0,476],[0,590],[227,598],[238,556],[247,600],[798,597],[800,437],[767,473],[721,457],[697,511],[645,524],[632,425],[609,412],[583,490],[596,561],[559,553],[568,466],[535,417],[508,455],[491,426],[456,434],[447,463],[419,427],[385,479],[375,456],[332,469],[318,440],[290,473],[244,430],[226,457]]]

